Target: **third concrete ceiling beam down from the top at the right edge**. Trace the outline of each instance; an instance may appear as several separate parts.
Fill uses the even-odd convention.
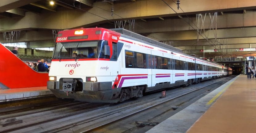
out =
[[[242,38],[242,37],[256,37],[256,27],[251,28],[236,28],[236,29],[217,29],[217,39],[222,38]],[[206,31],[201,33],[199,39],[214,39],[215,30]],[[147,37],[158,39],[158,41],[170,40],[197,40],[196,30],[179,31],[179,32],[164,32],[164,33],[151,33]]]

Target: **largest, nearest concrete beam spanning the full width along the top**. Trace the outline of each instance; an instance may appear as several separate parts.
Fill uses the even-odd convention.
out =
[[[191,6],[195,3],[196,8],[195,6]],[[247,2],[243,2],[241,0],[233,0],[232,2],[223,0],[184,0],[180,7],[184,10],[185,13],[183,13],[182,10],[174,8],[175,11],[178,13],[177,14],[172,9],[170,9],[164,2],[159,2],[159,0],[147,0],[128,3],[115,3],[114,13],[116,15],[114,14],[114,17],[112,17],[109,10],[111,9],[111,5],[105,2],[96,2],[93,4],[94,7],[88,9],[88,12],[81,12],[80,9],[77,9],[62,10],[56,13],[45,12],[40,15],[36,15],[34,13],[26,13],[26,16],[19,19],[19,21],[3,19],[0,21],[0,25],[3,25],[3,29],[10,30],[26,28],[70,29],[81,26],[88,27],[95,24],[105,23],[109,20],[155,18],[256,8],[255,0],[248,0]],[[176,4],[172,1],[168,2],[168,4],[171,7],[176,7]]]

